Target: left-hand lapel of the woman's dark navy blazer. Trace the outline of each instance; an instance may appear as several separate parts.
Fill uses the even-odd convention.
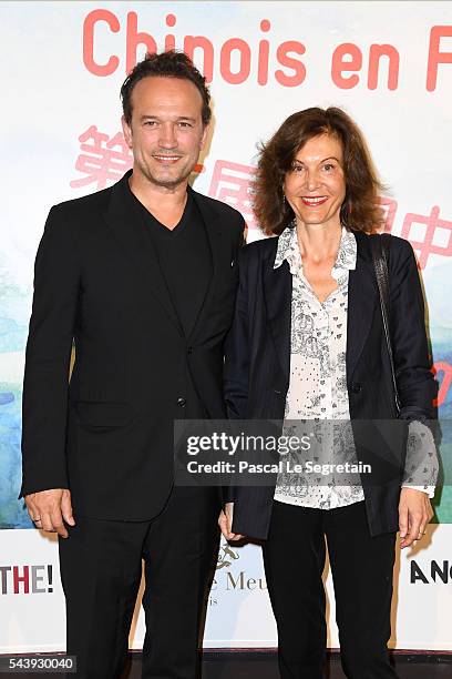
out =
[[[278,240],[275,239],[275,251],[271,251],[271,256],[265,263],[264,295],[275,349],[288,384],[290,377],[292,276],[286,261],[278,268],[274,268],[277,242]]]

